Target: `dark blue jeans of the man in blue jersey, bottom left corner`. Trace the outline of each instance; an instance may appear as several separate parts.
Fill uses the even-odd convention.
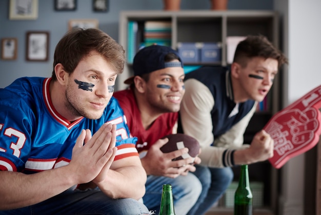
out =
[[[98,189],[67,190],[28,207],[0,211],[0,214],[150,214],[134,199],[111,199]]]

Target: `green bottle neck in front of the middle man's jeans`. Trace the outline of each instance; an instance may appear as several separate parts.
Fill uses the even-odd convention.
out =
[[[175,215],[172,185],[164,184],[162,199],[160,200],[159,215]]]

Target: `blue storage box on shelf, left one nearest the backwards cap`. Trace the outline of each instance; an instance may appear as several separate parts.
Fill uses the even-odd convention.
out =
[[[178,42],[177,51],[183,63],[200,61],[200,46],[198,42]]]

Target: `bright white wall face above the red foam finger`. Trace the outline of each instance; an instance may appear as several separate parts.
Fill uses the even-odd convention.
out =
[[[289,0],[290,103],[321,84],[320,9],[320,0]]]

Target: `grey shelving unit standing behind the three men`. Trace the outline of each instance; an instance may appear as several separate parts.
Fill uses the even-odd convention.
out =
[[[226,11],[208,11],[208,10],[182,10],[182,11],[122,11],[119,15],[119,44],[123,45],[127,51],[128,41],[128,23],[135,21],[138,27],[144,27],[147,21],[167,21],[171,22],[171,46],[177,49],[179,42],[221,42],[223,66],[227,65],[227,46],[226,38],[228,36],[247,36],[250,34],[262,34],[278,47],[278,14],[275,11],[256,11],[256,10],[226,10]],[[144,38],[142,38],[144,39]],[[193,63],[187,63],[193,65]],[[214,64],[214,63],[213,63]],[[217,62],[215,62],[217,64]],[[211,65],[211,63],[197,63],[197,65]],[[117,90],[128,87],[124,80],[133,75],[131,63],[126,63],[123,74],[117,77]],[[266,112],[257,113],[252,118],[246,134],[245,143],[250,143],[252,136],[259,131],[270,119],[272,114],[280,109],[280,96],[278,89],[279,78],[276,77],[271,92],[269,93],[270,105]],[[256,167],[255,167],[256,166]],[[251,170],[251,168],[253,170]],[[254,214],[274,214],[276,210],[277,195],[277,170],[268,162],[257,163],[250,167],[251,171],[264,170],[269,176],[258,177],[266,187],[265,205],[262,208],[254,208],[258,213]],[[265,169],[263,169],[265,168]],[[264,179],[263,179],[264,178]],[[237,176],[235,178],[237,180]],[[232,214],[232,209],[215,207],[209,214]]]

